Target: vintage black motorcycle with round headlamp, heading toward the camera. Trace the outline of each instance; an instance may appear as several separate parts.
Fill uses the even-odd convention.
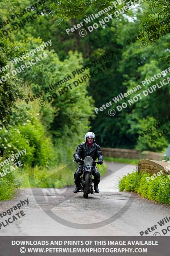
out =
[[[76,162],[76,160],[73,160],[73,162]],[[80,179],[80,190],[79,192],[83,192],[83,197],[88,198],[88,194],[94,194],[94,185],[92,185],[92,182],[94,180],[92,179],[93,175],[93,166],[92,164],[98,162],[93,161],[91,156],[86,156],[84,160],[80,160],[79,163],[84,163],[82,167],[80,167],[79,173],[81,173]]]

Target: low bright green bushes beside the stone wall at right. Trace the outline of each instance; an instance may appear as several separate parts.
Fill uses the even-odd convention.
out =
[[[132,172],[119,181],[120,191],[134,191],[144,198],[156,200],[159,203],[170,204],[170,179],[168,175],[146,180],[151,174]]]

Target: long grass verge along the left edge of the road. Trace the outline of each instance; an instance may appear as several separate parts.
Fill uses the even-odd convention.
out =
[[[2,158],[2,162],[5,158]],[[60,165],[58,168],[41,168],[36,166],[30,168],[24,166],[22,169],[10,171],[10,165],[0,166],[0,201],[11,200],[15,196],[16,188],[63,188],[74,185],[74,172],[77,164],[69,166]],[[107,165],[98,165],[100,175],[107,174]],[[9,173],[4,175],[4,170]],[[3,176],[3,177],[2,177]]]

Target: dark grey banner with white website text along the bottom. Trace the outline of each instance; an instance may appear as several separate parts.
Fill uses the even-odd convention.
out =
[[[169,256],[169,236],[1,236],[0,255]]]

